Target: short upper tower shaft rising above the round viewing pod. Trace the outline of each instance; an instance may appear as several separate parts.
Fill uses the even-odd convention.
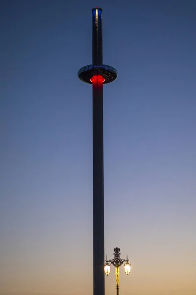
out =
[[[93,64],[103,63],[102,51],[102,9],[93,9]]]

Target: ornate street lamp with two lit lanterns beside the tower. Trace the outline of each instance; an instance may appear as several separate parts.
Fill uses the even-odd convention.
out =
[[[120,253],[120,248],[116,247],[114,248],[114,258],[112,260],[107,260],[107,256],[106,256],[106,264],[104,266],[104,271],[105,274],[108,276],[110,274],[110,264],[109,262],[115,266],[115,275],[116,275],[116,290],[117,290],[117,295],[119,295],[119,274],[120,274],[120,266],[122,266],[123,262],[125,262],[124,264],[124,270],[126,274],[129,274],[131,272],[131,265],[128,262],[128,258],[126,255],[126,259],[121,259],[120,257],[121,253]]]

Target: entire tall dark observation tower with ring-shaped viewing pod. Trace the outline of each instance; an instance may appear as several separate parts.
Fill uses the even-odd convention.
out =
[[[117,71],[103,64],[102,9],[93,8],[93,63],[78,71],[78,78],[93,85],[93,281],[94,295],[104,295],[104,181],[103,85],[117,78]]]

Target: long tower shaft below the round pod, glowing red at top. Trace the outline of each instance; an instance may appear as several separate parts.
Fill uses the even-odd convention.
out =
[[[104,192],[103,192],[103,80],[93,82],[93,277],[94,295],[104,295]]]

